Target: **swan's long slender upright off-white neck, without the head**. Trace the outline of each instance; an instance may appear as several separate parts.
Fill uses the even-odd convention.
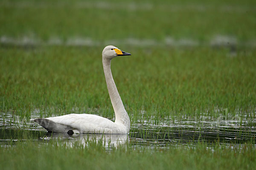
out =
[[[116,84],[114,82],[112,73],[111,73],[111,59],[106,59],[102,57],[102,64],[104,69],[104,74],[106,78],[106,83],[108,86],[108,93],[111,99],[111,103],[113,105],[113,109],[116,116],[116,123],[122,123],[128,128],[128,131],[130,130],[130,119],[125,111],[125,107],[122,103],[122,99],[117,91]]]

